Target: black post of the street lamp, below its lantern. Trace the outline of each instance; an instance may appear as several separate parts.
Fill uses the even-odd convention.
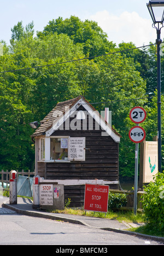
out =
[[[161,172],[161,30],[157,29],[157,128],[158,128],[158,169]]]

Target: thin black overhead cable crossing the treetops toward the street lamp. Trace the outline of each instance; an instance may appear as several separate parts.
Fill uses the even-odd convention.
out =
[[[162,43],[164,43],[164,42],[162,42]],[[53,63],[53,64],[46,64],[46,65],[40,65],[40,66],[34,66],[34,67],[25,67],[23,69],[16,69],[16,70],[6,70],[6,71],[1,71],[0,73],[15,72],[15,71],[21,71],[21,70],[30,70],[30,69],[37,69],[39,67],[55,66],[55,65],[60,65],[60,64],[66,64],[66,63],[69,63],[69,62],[80,61],[80,60],[94,59],[94,58],[98,58],[98,57],[102,57],[102,56],[112,55],[112,54],[116,54],[116,53],[123,53],[123,52],[127,52],[127,51],[130,51],[130,50],[144,48],[144,47],[148,47],[148,46],[155,45],[155,44],[156,43],[148,44],[148,45],[143,45],[143,46],[140,46],[140,47],[134,47],[134,48],[131,48],[131,49],[118,50],[118,51],[112,52],[112,53],[106,53],[106,54],[101,54],[101,55],[96,55],[96,56],[91,56],[91,57],[85,57],[85,58],[81,58],[81,59],[56,62],[56,63]]]

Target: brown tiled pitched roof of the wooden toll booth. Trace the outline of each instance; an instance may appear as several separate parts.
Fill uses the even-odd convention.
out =
[[[48,115],[46,115],[44,117],[44,119],[42,121],[40,121],[40,127],[31,135],[32,137],[36,137],[36,136],[40,136],[40,135],[45,135],[45,132],[48,131],[53,123],[55,121],[58,120],[58,118],[60,118],[61,113],[62,115],[65,115],[65,112],[67,111],[67,109],[71,109],[72,106],[74,106],[80,99],[83,99],[85,101],[85,103],[87,103],[87,105],[89,105],[91,107],[91,109],[93,111],[96,111],[94,109],[94,107],[85,100],[84,96],[80,95],[77,98],[71,99],[71,100],[66,100],[60,103],[57,103],[57,105],[54,107],[54,109],[52,109]],[[120,136],[121,135],[119,133],[116,132],[116,130],[114,130],[112,128],[113,132]]]

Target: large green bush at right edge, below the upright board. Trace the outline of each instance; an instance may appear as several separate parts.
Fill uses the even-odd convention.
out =
[[[154,176],[154,182],[144,187],[142,206],[148,223],[159,231],[164,230],[164,172]]]

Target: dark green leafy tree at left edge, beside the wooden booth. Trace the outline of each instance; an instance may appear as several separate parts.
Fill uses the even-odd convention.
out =
[[[10,76],[10,74],[8,74]],[[12,74],[11,74],[12,76]],[[10,82],[13,78],[10,77]],[[31,129],[27,126],[30,111],[22,104],[19,83],[0,82],[0,158],[1,168],[33,168],[34,151],[30,139]]]

